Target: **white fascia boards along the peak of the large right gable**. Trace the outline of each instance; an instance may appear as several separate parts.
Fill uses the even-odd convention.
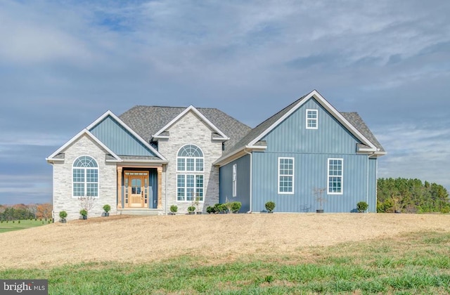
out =
[[[259,134],[259,136],[257,136],[257,138],[255,138],[254,140],[252,140],[249,145],[255,145],[255,143],[257,143],[259,140],[261,140],[262,138],[264,138],[264,136],[266,136],[267,133],[269,133],[270,131],[274,130],[276,126],[278,126],[278,124],[281,124],[281,122],[283,122],[286,118],[288,118],[291,114],[293,114],[293,112],[295,112],[296,110],[298,110],[302,105],[304,105],[304,103],[306,103],[310,98],[316,98],[316,100],[323,106],[325,107],[326,110],[328,110],[328,112],[330,112],[330,114],[332,114],[336,119],[338,119],[338,121],[344,125],[345,127],[347,127],[347,129],[349,129],[349,131],[351,131],[354,136],[356,136],[356,138],[359,138],[359,140],[361,140],[364,144],[372,147],[373,149],[376,150],[375,145],[373,145],[373,143],[371,143],[370,140],[368,140],[365,136],[363,136],[361,134],[361,132],[359,132],[352,124],[350,124],[347,119],[345,119],[342,114],[340,114],[340,112],[338,112],[338,110],[335,109],[335,107],[333,107],[333,105],[330,105],[330,103],[328,103],[328,101],[326,101],[325,98],[323,98],[323,96],[321,96],[321,94],[316,91],[313,90],[310,93],[307,94],[307,96],[305,96],[299,103],[297,103],[297,105],[295,105],[294,107],[292,107],[288,112],[286,112],[283,117],[281,117],[280,119],[278,119],[274,124],[272,124],[271,126],[269,126],[268,129],[264,130],[264,132],[262,132],[261,134]]]

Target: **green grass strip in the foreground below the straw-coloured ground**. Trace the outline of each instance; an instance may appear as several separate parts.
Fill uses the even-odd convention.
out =
[[[449,294],[450,233],[252,254],[229,263],[179,256],[157,263],[8,269],[0,277],[48,279],[49,294]]]

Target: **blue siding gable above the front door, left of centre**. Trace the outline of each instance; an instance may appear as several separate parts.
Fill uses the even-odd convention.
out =
[[[105,117],[89,131],[116,155],[158,157],[111,116]]]

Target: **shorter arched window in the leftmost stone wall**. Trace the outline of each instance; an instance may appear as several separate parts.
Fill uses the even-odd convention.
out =
[[[98,165],[89,156],[78,157],[72,166],[74,197],[98,197]]]

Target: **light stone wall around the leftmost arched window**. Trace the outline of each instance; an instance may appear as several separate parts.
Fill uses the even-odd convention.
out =
[[[110,204],[111,214],[117,213],[117,172],[115,163],[105,162],[105,151],[89,136],[82,136],[70,145],[65,151],[63,163],[53,164],[53,212],[58,221],[59,212],[67,211],[68,220],[80,217],[79,200],[72,197],[72,164],[80,156],[93,157],[98,164],[98,198],[94,208],[88,212],[88,218],[101,216],[103,205]]]

